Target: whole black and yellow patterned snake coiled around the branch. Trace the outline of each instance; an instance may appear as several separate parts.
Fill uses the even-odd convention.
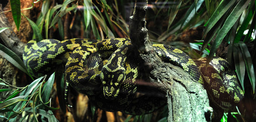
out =
[[[192,60],[175,47],[165,44],[152,46],[163,61],[181,67],[203,84],[215,105],[231,108],[243,98],[235,72],[224,59],[213,58],[205,69],[206,58]],[[147,95],[134,97],[139,70],[138,61],[131,58],[131,50],[133,47],[128,38],[68,39],[61,42],[55,39],[31,40],[24,49],[23,61],[35,77],[50,74],[59,65],[66,65],[65,99],[68,86],[72,86],[103,110],[137,115],[151,113],[166,105],[166,100]]]

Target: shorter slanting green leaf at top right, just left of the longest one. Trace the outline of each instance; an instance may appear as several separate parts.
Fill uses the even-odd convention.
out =
[[[236,0],[223,0],[222,3],[216,8],[212,17],[209,18],[207,26],[204,31],[204,36],[212,29],[215,23],[222,17],[223,14],[236,2]],[[204,37],[202,36],[202,37]]]

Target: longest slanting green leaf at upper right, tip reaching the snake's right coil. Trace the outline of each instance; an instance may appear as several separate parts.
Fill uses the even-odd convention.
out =
[[[215,38],[215,41],[212,44],[212,48],[210,50],[209,56],[207,57],[207,62],[206,62],[207,65],[212,60],[213,55],[215,54],[218,46],[221,44],[222,40],[227,35],[230,28],[233,27],[236,20],[239,18],[239,16],[242,14],[242,12],[248,6],[249,3],[250,3],[250,0],[239,1],[239,3],[236,5],[236,7],[233,9],[233,11],[227,17],[226,21],[224,22],[224,25],[222,26],[221,30],[218,32],[218,34]]]

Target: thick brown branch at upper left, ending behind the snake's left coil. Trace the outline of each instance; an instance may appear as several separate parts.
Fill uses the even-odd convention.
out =
[[[0,7],[0,13],[2,12],[2,7]],[[0,28],[11,28],[8,19],[5,14],[0,14]],[[0,33],[0,39],[3,43],[19,57],[22,57],[22,53],[26,44],[20,42],[15,32],[12,29],[6,29]]]

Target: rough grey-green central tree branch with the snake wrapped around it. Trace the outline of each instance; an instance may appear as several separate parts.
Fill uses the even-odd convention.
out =
[[[130,17],[130,38],[135,50],[139,50],[144,67],[150,69],[150,82],[166,93],[169,122],[210,121],[212,108],[204,87],[180,67],[164,63],[153,50],[146,29],[148,0],[137,0]]]

